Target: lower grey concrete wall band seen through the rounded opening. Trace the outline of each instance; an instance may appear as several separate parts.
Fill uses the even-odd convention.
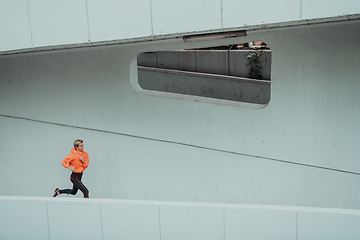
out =
[[[270,82],[264,80],[147,67],[138,67],[138,80],[146,90],[199,96],[200,100],[247,102],[262,105],[259,108],[270,101]]]

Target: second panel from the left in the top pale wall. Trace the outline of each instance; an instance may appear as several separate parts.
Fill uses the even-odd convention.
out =
[[[85,0],[29,0],[34,47],[88,42]]]

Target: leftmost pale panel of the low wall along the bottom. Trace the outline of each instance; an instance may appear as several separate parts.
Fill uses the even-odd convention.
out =
[[[46,201],[1,199],[0,239],[49,239]]]

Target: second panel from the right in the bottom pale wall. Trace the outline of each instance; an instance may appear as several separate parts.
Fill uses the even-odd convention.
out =
[[[296,212],[226,208],[225,239],[297,240]]]

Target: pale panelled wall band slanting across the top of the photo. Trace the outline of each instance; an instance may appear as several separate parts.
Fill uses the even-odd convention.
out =
[[[301,20],[307,24],[309,19],[359,13],[357,0],[1,1],[0,51],[293,25]]]

